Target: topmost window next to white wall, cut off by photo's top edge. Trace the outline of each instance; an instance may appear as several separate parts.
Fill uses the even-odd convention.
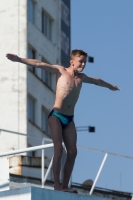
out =
[[[28,0],[28,20],[35,24],[35,2]]]

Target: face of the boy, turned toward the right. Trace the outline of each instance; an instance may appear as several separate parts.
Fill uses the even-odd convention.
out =
[[[86,57],[83,55],[76,56],[70,60],[70,63],[75,71],[82,72],[86,65]]]

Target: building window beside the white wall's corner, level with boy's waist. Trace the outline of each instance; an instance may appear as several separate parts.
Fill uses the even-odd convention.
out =
[[[35,99],[28,96],[28,120],[35,124]]]

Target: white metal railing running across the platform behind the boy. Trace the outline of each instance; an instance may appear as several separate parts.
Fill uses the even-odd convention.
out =
[[[10,133],[15,133],[15,134],[17,134],[17,132],[7,131],[7,130],[5,130],[5,129],[0,129],[0,131],[5,131],[5,132],[10,132]],[[23,133],[18,133],[18,134],[19,134],[19,135],[24,135],[24,136],[27,136],[27,137],[28,137],[28,135],[25,135],[25,134],[23,134]],[[35,138],[35,137],[34,137],[34,138]],[[40,138],[40,139],[41,139],[41,138]],[[49,167],[48,167],[48,169],[47,169],[47,172],[46,172],[46,174],[45,174],[45,176],[44,176],[44,166],[45,166],[45,163],[44,163],[44,149],[54,146],[53,143],[44,144],[45,141],[50,142],[51,140],[48,139],[48,138],[43,138],[43,139],[42,139],[42,145],[40,145],[40,146],[29,147],[29,148],[25,148],[25,149],[20,149],[20,150],[14,150],[14,151],[9,151],[9,152],[0,153],[0,157],[9,156],[9,155],[15,155],[15,154],[19,154],[19,153],[24,153],[24,152],[29,152],[29,151],[34,151],[34,150],[40,150],[40,149],[42,149],[42,188],[43,188],[43,187],[44,187],[44,184],[45,184],[45,181],[46,181],[46,179],[47,179],[47,176],[48,176],[48,174],[49,174],[49,171],[50,171],[50,169],[51,169],[51,167],[52,167],[52,162],[53,162],[53,157],[52,157],[51,162],[50,162],[50,164],[49,164]],[[63,147],[64,147],[64,144],[63,144]],[[121,154],[116,154],[116,153],[112,153],[112,152],[106,152],[106,151],[103,151],[103,150],[98,150],[98,149],[89,148],[89,147],[83,147],[83,146],[79,146],[79,145],[77,145],[77,147],[78,147],[78,148],[81,148],[81,149],[84,149],[84,150],[90,150],[90,151],[100,152],[100,153],[103,153],[103,154],[104,154],[104,158],[103,158],[103,160],[102,160],[102,163],[101,163],[101,165],[100,165],[100,168],[99,168],[99,170],[98,170],[98,173],[97,173],[97,175],[96,175],[96,178],[95,178],[95,180],[94,180],[94,182],[93,182],[93,185],[92,185],[92,187],[91,187],[91,190],[90,190],[90,192],[89,192],[90,195],[92,195],[92,193],[93,193],[93,191],[94,191],[95,185],[96,185],[96,183],[97,183],[97,181],[98,181],[98,178],[99,178],[99,176],[100,176],[100,173],[101,173],[101,171],[102,171],[102,169],[103,169],[103,166],[104,166],[104,164],[105,164],[105,162],[106,162],[106,159],[107,159],[107,157],[108,157],[109,155],[113,155],[113,156],[117,156],[117,157],[122,157],[122,158],[126,158],[126,159],[131,159],[131,160],[133,160],[133,157],[127,156],[127,155],[121,155]],[[64,148],[65,148],[65,147],[64,147]]]

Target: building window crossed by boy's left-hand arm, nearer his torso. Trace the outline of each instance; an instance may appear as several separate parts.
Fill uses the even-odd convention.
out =
[[[48,63],[44,58],[42,62]],[[52,74],[44,69],[42,69],[42,81],[50,88],[52,88]]]

